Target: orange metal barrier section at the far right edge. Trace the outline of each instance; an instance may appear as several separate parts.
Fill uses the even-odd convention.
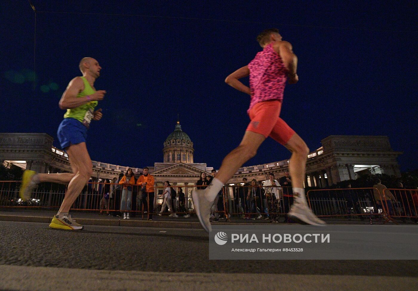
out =
[[[384,189],[383,202],[391,218],[408,218],[418,222],[418,190],[417,189]]]

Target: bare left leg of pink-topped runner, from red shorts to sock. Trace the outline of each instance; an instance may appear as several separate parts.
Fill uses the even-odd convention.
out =
[[[263,134],[246,131],[238,147],[232,150],[222,161],[217,179],[226,183],[237,172],[237,170],[249,159],[257,154],[257,149],[264,142]]]

